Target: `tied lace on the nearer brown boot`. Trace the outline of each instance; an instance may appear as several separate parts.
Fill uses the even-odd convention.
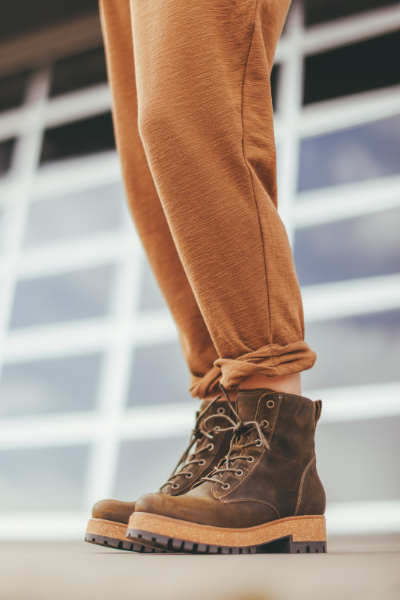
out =
[[[201,481],[212,481],[214,483],[219,483],[224,489],[228,489],[228,488],[230,488],[230,484],[224,483],[222,481],[222,475],[224,475],[224,473],[231,472],[231,473],[235,473],[238,476],[243,475],[243,471],[241,469],[238,469],[237,467],[232,466],[233,463],[238,460],[245,460],[247,462],[254,461],[254,457],[244,456],[243,450],[245,450],[246,448],[250,448],[252,446],[257,446],[257,447],[264,446],[264,448],[266,448],[267,450],[269,450],[270,447],[269,447],[268,441],[261,429],[260,423],[258,423],[257,421],[242,421],[240,419],[239,415],[237,414],[237,412],[235,411],[235,409],[233,408],[233,406],[229,400],[229,396],[222,384],[220,384],[220,388],[222,389],[224,395],[226,396],[226,398],[230,404],[231,410],[237,419],[237,422],[235,423],[232,419],[230,419],[230,421],[232,423],[232,427],[228,427],[227,429],[224,430],[224,431],[228,431],[228,430],[232,431],[232,439],[231,439],[231,443],[229,446],[228,454],[220,462],[218,467],[215,467],[215,469],[213,469],[213,471],[211,473],[209,473],[209,475],[207,477],[202,477]],[[257,433],[258,433],[257,439],[248,441],[248,442],[245,442],[242,444],[238,443],[241,441],[241,439],[243,439],[243,440],[245,440],[246,438],[249,439],[250,434],[254,430],[257,431]]]

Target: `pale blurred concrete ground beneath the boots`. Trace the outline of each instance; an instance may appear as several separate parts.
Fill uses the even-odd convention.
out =
[[[328,554],[134,554],[0,543],[0,600],[399,600],[400,536],[332,538]]]

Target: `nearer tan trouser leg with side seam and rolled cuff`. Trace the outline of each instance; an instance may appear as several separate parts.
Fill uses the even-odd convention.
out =
[[[228,388],[315,361],[277,213],[269,77],[288,5],[131,0],[139,131]]]

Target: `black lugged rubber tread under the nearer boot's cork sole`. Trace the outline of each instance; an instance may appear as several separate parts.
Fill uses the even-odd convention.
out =
[[[140,529],[128,529],[127,537],[149,540],[164,546],[170,552],[187,552],[189,554],[326,554],[326,542],[294,542],[292,536],[287,536],[258,546],[242,548],[229,546],[212,546],[195,544],[186,540],[169,538],[165,535],[150,533]]]

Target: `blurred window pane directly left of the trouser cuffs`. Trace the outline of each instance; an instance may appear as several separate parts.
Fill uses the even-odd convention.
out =
[[[174,404],[190,396],[189,373],[178,343],[136,348],[128,406]]]

